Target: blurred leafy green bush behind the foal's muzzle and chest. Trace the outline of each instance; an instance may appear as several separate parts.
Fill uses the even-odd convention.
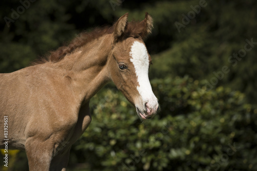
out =
[[[256,170],[257,109],[241,92],[184,78],[152,81],[161,112],[141,122],[116,89],[91,100],[93,121],[70,170]]]

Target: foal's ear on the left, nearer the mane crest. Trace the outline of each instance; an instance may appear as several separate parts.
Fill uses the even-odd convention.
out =
[[[124,15],[122,15],[114,25],[115,27],[113,32],[114,42],[116,42],[121,36],[121,34],[124,32],[127,25],[127,16],[128,16],[128,13],[125,13]]]

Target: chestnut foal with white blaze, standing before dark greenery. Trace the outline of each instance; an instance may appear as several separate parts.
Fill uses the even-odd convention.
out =
[[[153,20],[146,13],[143,21],[128,23],[127,15],[112,27],[82,33],[41,63],[0,74],[1,129],[8,123],[0,147],[8,142],[9,149],[26,150],[29,170],[65,170],[71,145],[91,122],[89,100],[109,81],[141,119],[156,114],[143,42]]]

